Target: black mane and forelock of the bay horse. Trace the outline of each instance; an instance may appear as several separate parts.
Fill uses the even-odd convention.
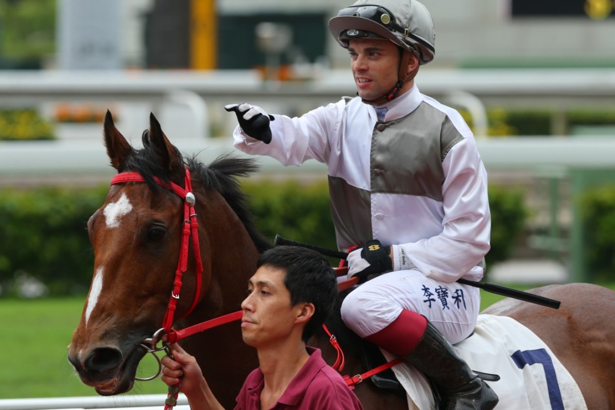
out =
[[[169,183],[171,175],[169,170],[161,167],[158,157],[149,145],[149,132],[143,132],[143,148],[133,150],[132,155],[122,164],[119,172],[127,170],[141,174],[146,184],[158,192],[161,186],[156,183],[154,176],[163,183]],[[207,167],[196,159],[196,155],[184,159],[181,152],[173,147],[177,156],[188,166],[191,176],[201,181],[203,186],[220,192],[224,200],[235,211],[239,220],[244,224],[250,238],[259,252],[272,247],[272,244],[258,232],[255,226],[254,216],[248,208],[248,195],[241,191],[239,186],[240,177],[248,177],[258,170],[256,161],[249,158],[235,157],[232,154],[224,154],[213,160]],[[183,179],[181,181],[183,186]]]

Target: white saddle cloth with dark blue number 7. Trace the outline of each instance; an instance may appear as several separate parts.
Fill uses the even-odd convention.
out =
[[[454,349],[470,368],[501,377],[487,382],[499,397],[495,410],[587,410],[568,370],[536,334],[512,318],[478,315],[474,334]],[[383,353],[387,360],[395,358]],[[403,363],[393,371],[406,389],[410,409],[435,409],[422,373]]]

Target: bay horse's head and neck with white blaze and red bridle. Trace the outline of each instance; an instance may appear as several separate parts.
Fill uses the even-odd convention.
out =
[[[142,342],[159,329],[239,310],[258,254],[270,245],[254,229],[237,181],[256,170],[252,160],[223,156],[205,167],[184,159],[153,114],[143,148],[130,145],[110,112],[104,136],[118,174],[87,223],[94,273],[68,360],[84,384],[114,395],[132,388],[147,352]],[[229,355],[244,357],[245,374],[209,378],[214,391],[231,385],[232,400],[257,366],[239,326],[189,339],[185,345],[207,355],[211,369],[224,366],[221,341]]]

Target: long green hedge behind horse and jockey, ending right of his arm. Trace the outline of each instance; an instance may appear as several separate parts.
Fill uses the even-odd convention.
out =
[[[260,231],[335,249],[335,233],[325,182],[302,184],[256,179],[242,181]],[[0,285],[15,295],[15,278],[25,272],[49,287],[49,294],[84,294],[93,253],[86,224],[104,202],[108,186],[0,189]],[[522,192],[490,187],[493,218],[488,266],[509,257],[523,231]],[[331,260],[332,263],[336,261]]]

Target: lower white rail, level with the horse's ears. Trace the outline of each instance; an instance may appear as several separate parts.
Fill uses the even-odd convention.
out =
[[[205,164],[226,152],[237,156],[230,136],[215,140],[174,141],[186,154],[196,153]],[[528,170],[534,167],[615,168],[615,138],[585,136],[506,137],[477,140],[478,151],[488,171]],[[255,157],[264,173],[326,172],[326,167],[308,161],[301,167],[282,167],[269,157]],[[28,178],[46,175],[92,175],[110,178],[102,138],[96,141],[0,142],[0,176]],[[323,174],[324,175],[324,174]]]

